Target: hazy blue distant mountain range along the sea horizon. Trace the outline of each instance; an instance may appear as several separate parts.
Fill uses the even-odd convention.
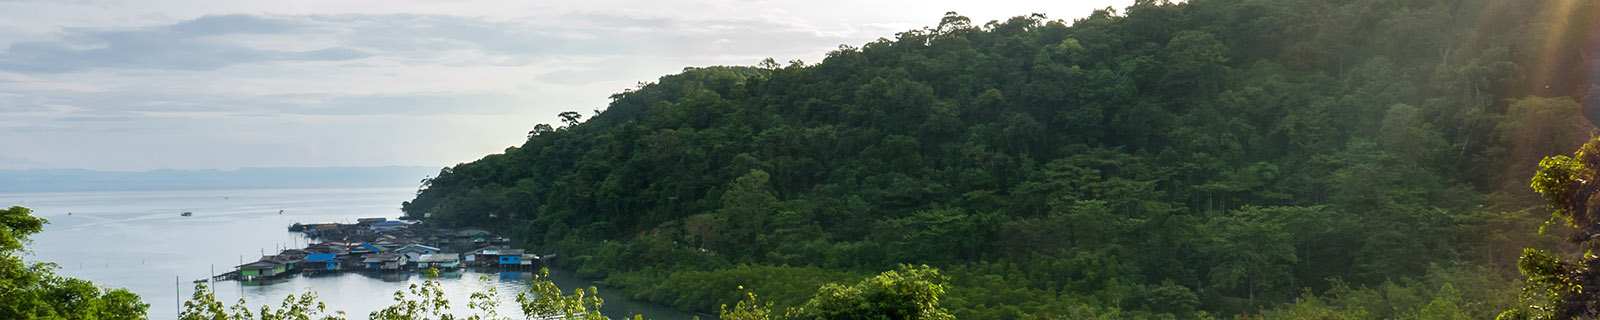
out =
[[[0,170],[0,192],[182,190],[278,187],[416,187],[432,166],[326,166],[224,170]]]

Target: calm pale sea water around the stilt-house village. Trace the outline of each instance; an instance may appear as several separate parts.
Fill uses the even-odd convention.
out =
[[[397,218],[400,202],[414,189],[272,189],[272,190],[130,190],[130,192],[43,192],[0,194],[0,205],[22,205],[50,219],[34,235],[29,261],[61,266],[58,274],[86,278],[104,286],[128,288],[150,304],[150,318],[176,318],[181,299],[194,293],[194,280],[230,270],[278,248],[299,248],[306,240],[288,232],[294,222],[354,222],[357,218]],[[278,213],[282,210],[282,214]],[[194,216],[179,216],[192,211]],[[485,278],[486,277],[486,278]],[[496,288],[501,315],[520,318],[515,294],[528,288],[523,272],[450,274],[440,280],[454,310],[464,310],[467,296]],[[565,291],[587,288],[589,282],[570,272],[552,270]],[[350,318],[394,302],[394,291],[421,283],[416,275],[339,274],[296,275],[275,283],[218,282],[218,299],[232,304],[274,307],[288,296],[317,291],[330,309]],[[659,304],[622,298],[616,290],[600,290],[603,314],[613,318],[643,314],[646,318],[686,320],[691,314]],[[702,318],[710,318],[701,315]]]

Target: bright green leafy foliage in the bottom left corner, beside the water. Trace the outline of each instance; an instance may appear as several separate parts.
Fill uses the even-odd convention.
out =
[[[150,306],[128,290],[58,277],[56,266],[24,262],[29,235],[48,221],[32,210],[0,210],[0,318],[144,318]]]

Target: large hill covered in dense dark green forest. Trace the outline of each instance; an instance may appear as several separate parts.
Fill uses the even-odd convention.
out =
[[[819,64],[690,67],[618,93],[442,170],[405,213],[498,227],[701,310],[739,285],[792,306],[928,264],[962,318],[1488,318],[1517,304],[1520,248],[1550,243],[1534,235],[1538,160],[1594,128],[1595,11],[947,14]]]

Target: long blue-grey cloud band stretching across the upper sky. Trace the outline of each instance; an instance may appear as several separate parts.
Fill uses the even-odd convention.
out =
[[[794,22],[760,18],[693,21],[582,13],[485,21],[437,14],[221,14],[155,27],[64,29],[61,37],[51,40],[10,45],[0,53],[0,70],[214,70],[240,64],[370,56],[435,62],[454,51],[488,56],[482,62],[526,64],[539,56],[760,54],[784,46],[810,46],[814,51],[845,40]],[[325,46],[282,50],[301,43]]]

